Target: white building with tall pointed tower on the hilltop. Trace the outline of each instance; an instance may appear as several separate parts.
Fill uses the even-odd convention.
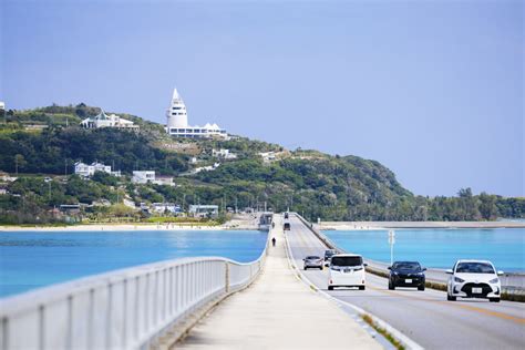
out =
[[[223,137],[227,138],[228,134],[217,124],[207,123],[204,126],[189,126],[186,105],[177,92],[173,90],[172,103],[166,112],[167,125],[166,132],[176,137]]]

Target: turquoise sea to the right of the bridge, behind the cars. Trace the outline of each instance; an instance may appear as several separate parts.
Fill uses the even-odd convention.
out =
[[[378,261],[390,261],[387,230],[325,231],[336,245]],[[525,271],[525,228],[397,229],[394,260],[452,268],[457,259],[491,260],[504,271]]]

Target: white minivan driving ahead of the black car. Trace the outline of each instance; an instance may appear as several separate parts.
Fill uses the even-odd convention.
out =
[[[328,290],[334,287],[358,287],[364,290],[363,258],[356,254],[336,254],[331,257],[328,272]]]

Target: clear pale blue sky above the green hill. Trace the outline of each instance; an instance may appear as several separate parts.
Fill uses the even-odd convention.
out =
[[[523,1],[1,1],[0,100],[85,102],[524,196]]]

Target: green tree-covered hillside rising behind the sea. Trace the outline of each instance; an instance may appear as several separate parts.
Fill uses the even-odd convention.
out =
[[[358,156],[295,150],[245,137],[174,140],[163,126],[119,113],[140,131],[83,130],[79,122],[100,109],[85,104],[8,111],[0,123],[0,223],[53,223],[61,205],[81,204],[74,220],[148,220],[128,203],[216,204],[229,208],[296,210],[316,220],[492,220],[524,217],[525,198],[506,198],[470,188],[454,197],[412,194],[382,164]],[[28,125],[42,125],[40,128]],[[235,158],[213,150],[226,148]],[[261,153],[272,153],[271,159]],[[192,159],[194,158],[194,159]],[[121,177],[73,174],[75,162],[101,162]],[[213,171],[196,167],[220,163]],[[174,177],[175,186],[134,184],[133,171]],[[4,176],[6,177],[6,176]],[[167,214],[165,216],[168,216]],[[71,219],[71,216],[68,216]],[[150,220],[152,220],[150,218]],[[161,219],[164,220],[164,219]]]

